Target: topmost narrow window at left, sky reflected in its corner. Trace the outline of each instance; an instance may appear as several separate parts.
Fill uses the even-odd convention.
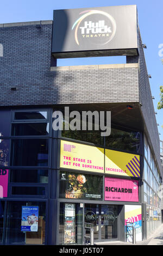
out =
[[[42,120],[47,119],[47,111],[22,111],[15,112],[14,115],[15,120]]]

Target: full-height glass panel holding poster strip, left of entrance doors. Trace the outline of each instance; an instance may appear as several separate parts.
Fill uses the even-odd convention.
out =
[[[60,203],[59,245],[83,244],[83,208],[80,204]]]

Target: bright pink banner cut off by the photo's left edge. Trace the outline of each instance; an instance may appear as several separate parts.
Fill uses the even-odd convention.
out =
[[[8,176],[9,170],[0,169],[0,198],[8,196]]]

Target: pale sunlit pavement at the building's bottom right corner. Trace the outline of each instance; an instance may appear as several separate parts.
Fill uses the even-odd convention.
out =
[[[95,245],[134,245],[129,242],[115,241],[115,242],[95,242]],[[163,223],[148,237],[147,240],[136,242],[136,245],[163,245]]]

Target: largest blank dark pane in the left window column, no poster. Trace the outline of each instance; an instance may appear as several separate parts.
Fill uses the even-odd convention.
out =
[[[13,139],[12,166],[48,166],[48,139]]]

